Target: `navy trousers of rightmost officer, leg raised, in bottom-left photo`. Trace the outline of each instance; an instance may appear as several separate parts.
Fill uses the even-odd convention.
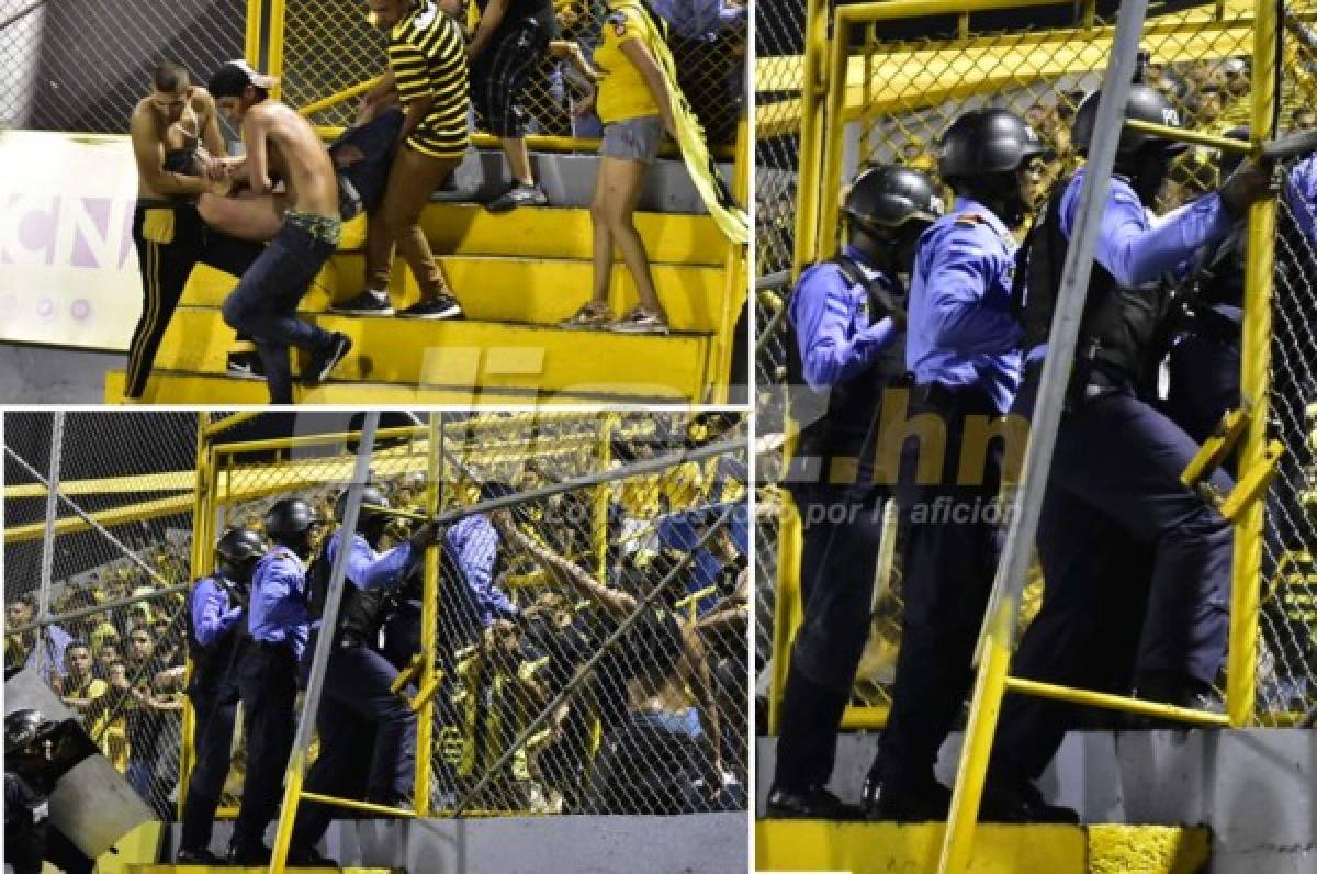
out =
[[[411,798],[416,766],[416,714],[390,687],[398,668],[365,646],[329,655],[316,713],[320,755],[307,774],[308,792],[398,807]],[[324,837],[337,808],[298,808],[292,846]]]

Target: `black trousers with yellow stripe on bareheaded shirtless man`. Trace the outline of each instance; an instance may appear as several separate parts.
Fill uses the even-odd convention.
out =
[[[265,247],[211,231],[195,203],[174,199],[138,199],[133,244],[142,273],[142,315],[128,347],[124,394],[140,398],[192,268],[203,262],[241,276]]]

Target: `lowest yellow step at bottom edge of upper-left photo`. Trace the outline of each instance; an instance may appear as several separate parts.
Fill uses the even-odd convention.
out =
[[[385,382],[324,382],[313,388],[294,386],[295,403],[332,406],[508,406],[508,405],[598,405],[673,403],[670,395],[599,395],[572,392],[536,392],[507,388],[415,388]],[[124,372],[105,374],[105,403],[122,403]],[[154,370],[146,384],[144,403],[180,406],[263,405],[270,402],[262,380],[234,380],[213,373]]]

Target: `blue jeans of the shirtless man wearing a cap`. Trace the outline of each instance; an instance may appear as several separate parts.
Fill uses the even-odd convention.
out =
[[[295,314],[335,248],[332,243],[317,240],[304,228],[284,221],[224,302],[225,323],[255,340],[257,352],[265,363],[270,403],[292,403],[288,347],[323,349],[333,337]]]

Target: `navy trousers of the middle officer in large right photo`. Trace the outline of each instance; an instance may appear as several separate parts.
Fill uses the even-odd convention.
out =
[[[872,778],[896,792],[932,779],[938,749],[969,692],[971,659],[992,592],[1000,539],[994,513],[1001,484],[998,444],[981,450],[981,476],[965,481],[960,476],[967,419],[988,423],[998,418],[992,399],[976,389],[917,386],[910,418],[922,414],[943,422],[947,439],[940,476],[930,477],[918,475],[921,452],[938,447],[905,440],[897,479],[905,616],[892,713],[871,770]],[[976,450],[971,446],[969,451]],[[979,469],[977,459],[971,467]]]

